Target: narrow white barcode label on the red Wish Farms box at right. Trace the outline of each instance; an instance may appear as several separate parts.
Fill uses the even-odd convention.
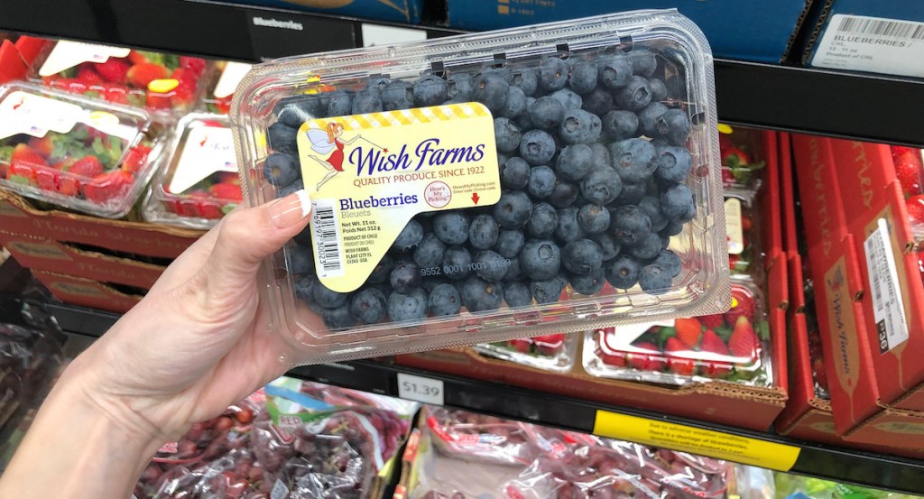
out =
[[[889,225],[879,219],[879,227],[863,243],[866,249],[869,286],[872,288],[872,310],[879,335],[879,351],[884,354],[908,339],[905,304],[898,288],[898,269],[892,245],[889,243]]]

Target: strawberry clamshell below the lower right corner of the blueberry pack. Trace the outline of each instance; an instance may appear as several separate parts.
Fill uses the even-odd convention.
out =
[[[583,363],[602,378],[772,386],[769,340],[763,294],[736,279],[725,313],[599,329],[585,335]]]

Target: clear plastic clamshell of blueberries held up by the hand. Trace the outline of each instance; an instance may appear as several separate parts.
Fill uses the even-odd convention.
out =
[[[726,310],[713,87],[673,10],[254,67],[245,198],[313,204],[266,264],[287,361]]]

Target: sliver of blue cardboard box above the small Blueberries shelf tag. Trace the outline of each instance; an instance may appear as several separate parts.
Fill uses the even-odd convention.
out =
[[[389,22],[417,24],[424,0],[225,0],[235,4],[308,10]]]

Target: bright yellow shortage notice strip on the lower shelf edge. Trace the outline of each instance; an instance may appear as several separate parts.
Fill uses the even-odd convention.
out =
[[[597,411],[593,432],[638,444],[666,447],[779,471],[792,469],[799,456],[799,448],[792,445],[701,430],[682,424],[646,420],[605,410]]]

